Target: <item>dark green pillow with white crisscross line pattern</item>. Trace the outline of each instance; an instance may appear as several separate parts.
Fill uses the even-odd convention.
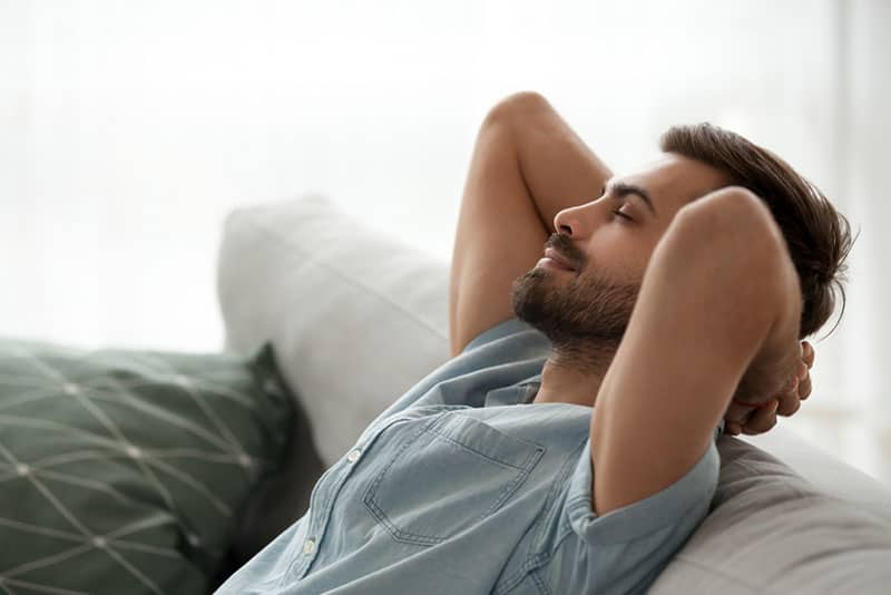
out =
[[[291,420],[268,345],[0,341],[0,593],[206,593]]]

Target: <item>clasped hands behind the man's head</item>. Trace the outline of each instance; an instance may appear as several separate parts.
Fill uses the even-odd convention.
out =
[[[800,344],[797,369],[775,394],[758,403],[746,404],[736,399],[731,401],[724,413],[724,433],[764,433],[776,425],[776,416],[789,417],[801,407],[801,401],[811,394],[811,367],[814,363],[814,348],[807,341]]]

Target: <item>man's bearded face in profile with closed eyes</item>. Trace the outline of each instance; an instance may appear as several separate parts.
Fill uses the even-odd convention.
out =
[[[544,332],[555,349],[617,348],[668,224],[681,207],[728,184],[717,169],[668,153],[608,181],[596,201],[560,211],[545,248],[572,270],[541,260],[517,279],[517,318]]]

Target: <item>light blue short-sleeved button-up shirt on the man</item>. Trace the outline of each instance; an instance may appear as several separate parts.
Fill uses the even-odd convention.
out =
[[[598,517],[593,409],[531,402],[550,348],[517,319],[477,336],[381,413],[306,514],[217,593],[646,591],[707,514],[717,449]]]

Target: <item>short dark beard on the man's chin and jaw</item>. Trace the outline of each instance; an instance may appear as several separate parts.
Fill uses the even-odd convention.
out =
[[[628,328],[639,283],[617,283],[595,274],[557,283],[562,273],[535,267],[511,286],[513,313],[550,339],[571,359],[615,352]]]

